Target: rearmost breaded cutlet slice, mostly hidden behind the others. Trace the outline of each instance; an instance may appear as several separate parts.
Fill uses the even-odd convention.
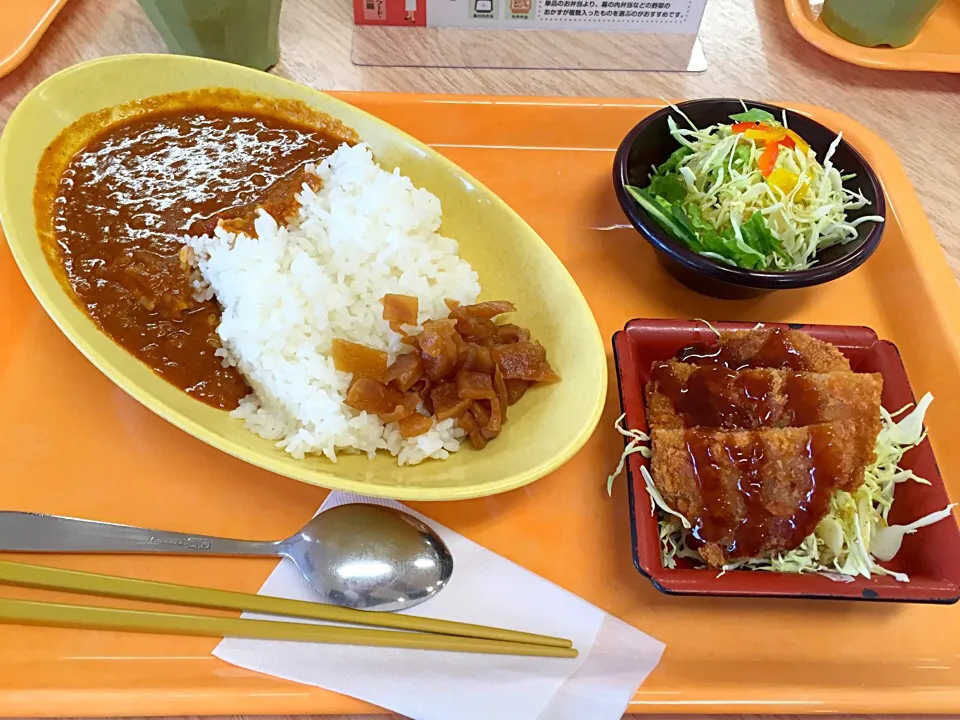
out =
[[[802,372],[850,372],[850,362],[828,342],[799,330],[757,328],[720,333],[715,343],[687,348],[679,360],[735,370],[771,367]]]

